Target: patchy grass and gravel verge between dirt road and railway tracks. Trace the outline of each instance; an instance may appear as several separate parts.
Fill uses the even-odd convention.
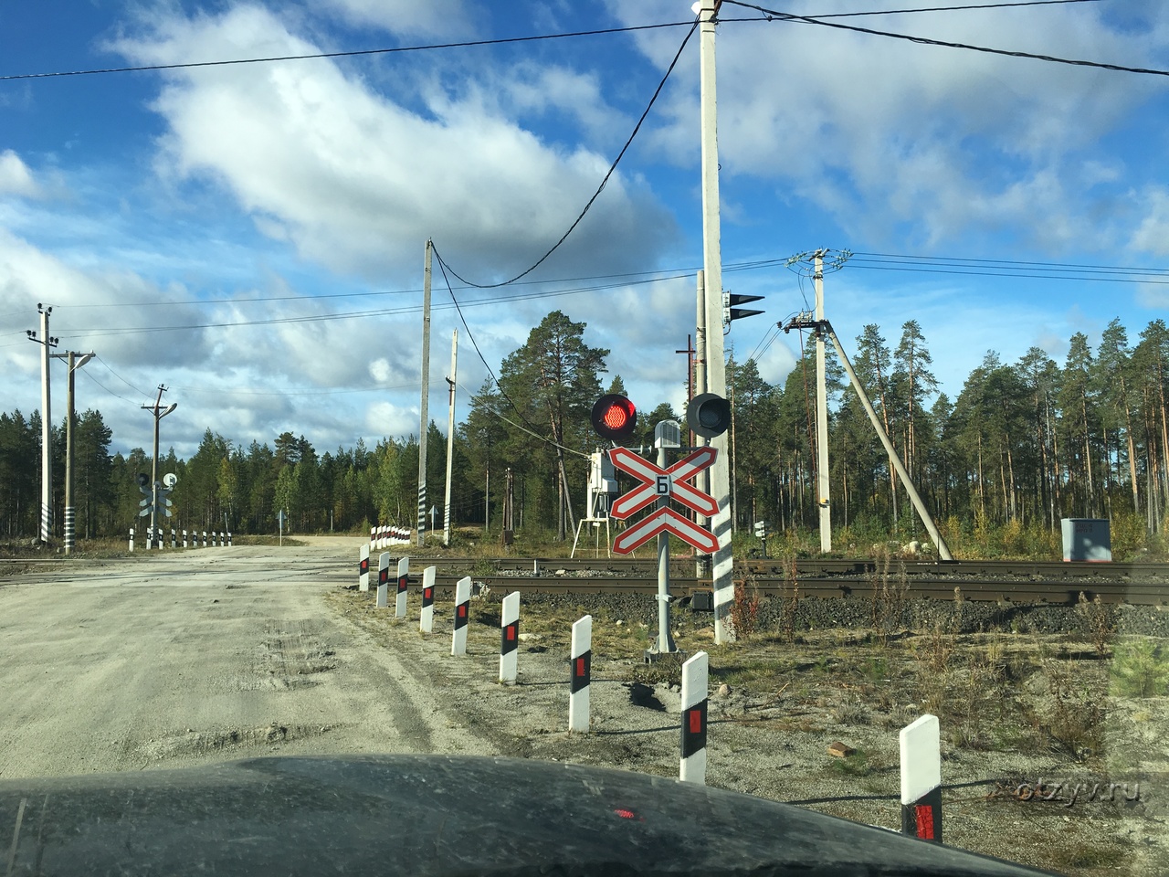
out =
[[[533,596],[521,608],[518,684],[503,685],[499,596],[472,601],[465,657],[449,654],[449,606],[436,612],[441,633],[422,635],[413,593],[409,617],[401,621],[392,608],[374,607],[373,592],[337,588],[328,603],[374,645],[419,668],[459,727],[489,739],[500,754],[677,776],[680,662],[642,660],[655,629],[648,624],[652,601]],[[569,734],[570,622],[588,613],[593,725],[588,734]],[[746,642],[717,647],[710,619],[685,608],[675,614],[679,648],[706,650],[711,661],[708,785],[899,829],[898,731],[926,711],[922,703],[936,689],[920,677],[932,660],[941,660],[953,664],[943,674],[952,690],[938,705],[966,698],[985,712],[981,721],[966,716],[957,739],[953,726],[943,733],[947,843],[1064,873],[1169,872],[1163,802],[1169,702],[1113,699],[1099,726],[1085,731],[1097,747],[1091,752],[1072,755],[1042,743],[1050,731],[1044,723],[1056,723],[1060,709],[1090,705],[1094,691],[1107,698],[1106,662],[1092,660],[1091,644],[1066,636],[971,634],[947,636],[939,645],[932,642],[939,634],[901,630],[874,640],[871,630],[831,628],[790,640],[760,630]],[[938,648],[943,654],[931,651]],[[981,693],[970,689],[985,684],[974,662],[988,651],[1014,668],[1004,674],[1019,675],[1019,696],[1033,704],[1026,716],[996,712],[992,686]],[[1059,655],[1084,660],[1060,663]],[[1063,706],[1052,704],[1050,690],[1066,679],[1045,675],[1059,672],[1079,674],[1072,679],[1078,692]],[[971,724],[981,739],[963,737]],[[836,741],[856,754],[829,755]],[[1018,800],[1021,785],[1040,779],[1042,794]],[[1051,792],[1065,780],[1071,785]],[[1127,782],[1129,796],[1140,782],[1137,800],[1126,800],[1121,789],[1113,801],[1084,800],[1092,783],[1109,781]],[[1077,783],[1081,792],[1071,801],[1068,789]],[[1047,795],[1052,800],[1043,801]]]

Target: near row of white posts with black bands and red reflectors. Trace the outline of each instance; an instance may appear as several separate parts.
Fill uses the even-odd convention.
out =
[[[358,588],[369,591],[369,546],[362,545],[358,561]],[[389,571],[393,559],[388,552],[378,555],[376,606],[389,608]],[[396,561],[394,614],[404,619],[410,559]],[[422,572],[422,609],[419,630],[434,633],[435,573],[433,566]],[[471,576],[455,585],[455,612],[450,654],[466,654],[466,634],[470,623]],[[518,678],[519,654],[519,592],[503,599],[499,631],[499,682],[514,685]],[[589,685],[593,665],[593,617],[586,615],[573,623],[568,679],[568,731],[589,733]],[[706,782],[706,707],[708,700],[708,657],[699,651],[682,665],[682,727],[678,779],[704,785]],[[941,843],[941,733],[936,716],[922,716],[900,732],[901,748],[901,833],[912,837]]]

